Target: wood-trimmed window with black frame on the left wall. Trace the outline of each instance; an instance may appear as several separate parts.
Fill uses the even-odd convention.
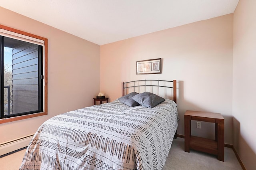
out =
[[[0,25],[0,123],[47,114],[47,39]]]

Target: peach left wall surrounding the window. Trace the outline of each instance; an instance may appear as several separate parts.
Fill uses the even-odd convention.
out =
[[[0,124],[0,143],[36,132],[47,119],[93,105],[100,46],[0,7],[0,24],[48,38],[48,115]]]

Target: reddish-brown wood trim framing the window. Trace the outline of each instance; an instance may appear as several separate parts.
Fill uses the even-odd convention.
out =
[[[0,119],[0,124],[13,122],[13,121],[19,121],[19,120],[23,120],[23,119],[32,118],[32,117],[47,115],[48,114],[48,93],[47,93],[48,92],[48,77],[47,77],[48,76],[48,64],[47,64],[48,63],[48,39],[40,37],[40,36],[36,36],[34,34],[30,34],[30,33],[27,33],[27,32],[23,32],[23,31],[20,31],[20,30],[16,30],[14,28],[3,26],[1,24],[0,24],[0,28],[3,29],[3,30],[7,30],[7,31],[10,31],[10,32],[15,32],[15,33],[18,33],[18,34],[22,34],[24,36],[29,36],[29,37],[36,38],[36,39],[44,41],[44,108],[43,108],[43,112]]]

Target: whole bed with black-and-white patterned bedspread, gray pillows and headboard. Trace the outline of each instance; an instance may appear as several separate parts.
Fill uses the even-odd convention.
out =
[[[160,170],[178,121],[176,80],[122,82],[122,97],[44,122],[20,170]]]

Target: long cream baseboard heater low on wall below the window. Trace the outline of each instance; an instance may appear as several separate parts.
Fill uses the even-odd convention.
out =
[[[34,134],[0,143],[0,156],[28,146]]]

